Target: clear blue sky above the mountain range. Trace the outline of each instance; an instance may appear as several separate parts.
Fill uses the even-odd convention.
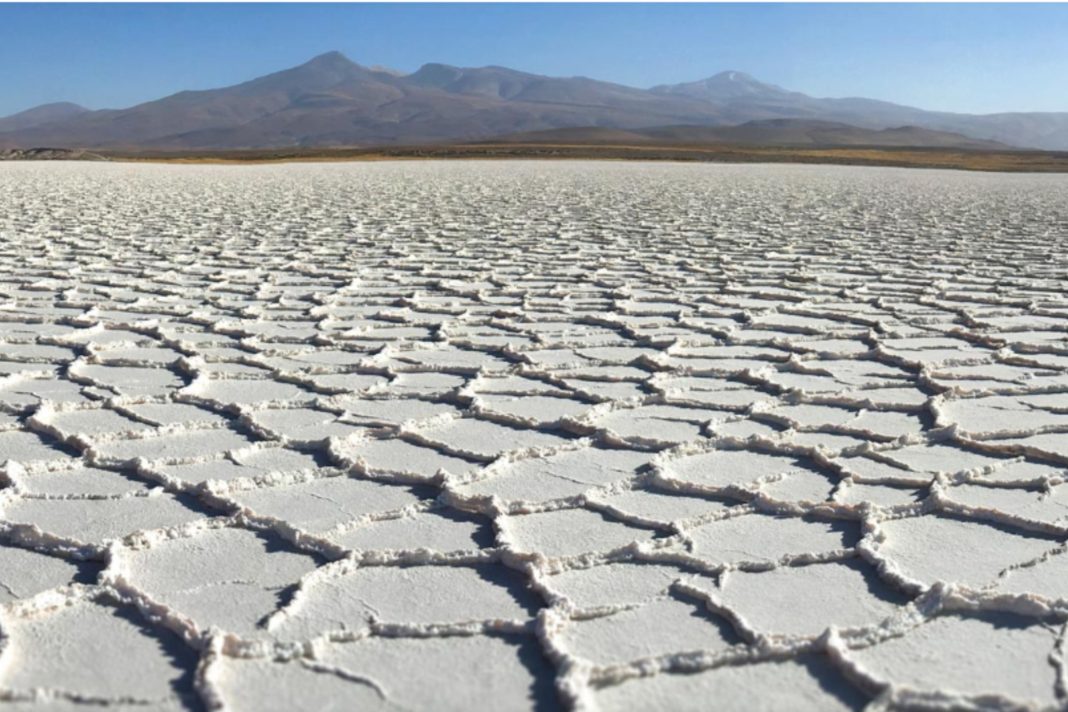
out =
[[[341,50],[633,86],[725,69],[815,96],[1068,111],[1068,4],[3,4],[0,115],[126,107]]]

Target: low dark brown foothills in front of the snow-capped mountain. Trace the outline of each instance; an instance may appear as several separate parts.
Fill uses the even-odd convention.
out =
[[[1010,147],[996,141],[980,141],[961,133],[936,131],[917,126],[867,129],[807,118],[770,118],[738,126],[655,126],[629,130],[598,127],[559,128],[512,133],[483,143],[613,146],[724,144],[784,147],[879,146],[969,151],[1005,151]]]

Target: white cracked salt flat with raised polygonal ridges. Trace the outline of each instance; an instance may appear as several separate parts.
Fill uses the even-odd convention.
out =
[[[1065,709],[1068,181],[0,171],[0,707]]]

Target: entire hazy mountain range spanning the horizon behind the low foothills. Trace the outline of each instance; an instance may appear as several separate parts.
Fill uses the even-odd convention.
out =
[[[472,141],[574,127],[630,130],[805,120],[896,131],[857,135],[862,142],[934,140],[901,128],[916,127],[979,141],[1068,149],[1068,113],[971,115],[874,99],[816,98],[741,72],[650,90],[499,66],[426,64],[405,75],[362,66],[340,52],[233,86],[179,92],[127,109],[50,107],[0,118],[0,147],[326,147]],[[779,127],[773,133],[784,130]],[[846,140],[845,129],[834,132],[835,140]]]

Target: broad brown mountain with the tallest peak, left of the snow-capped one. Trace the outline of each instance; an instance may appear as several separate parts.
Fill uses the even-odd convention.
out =
[[[465,140],[561,126],[709,123],[716,107],[590,79],[427,65],[398,76],[339,52],[223,89],[0,133],[0,145],[110,148],[335,146]]]

